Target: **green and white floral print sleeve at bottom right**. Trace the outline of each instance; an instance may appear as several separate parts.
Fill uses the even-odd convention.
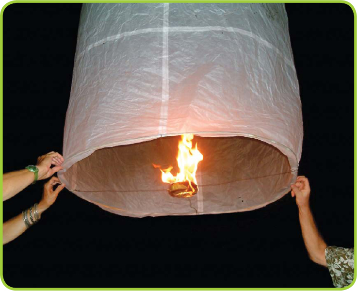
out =
[[[333,285],[336,288],[350,285],[355,273],[354,248],[328,246],[325,249],[325,258]]]

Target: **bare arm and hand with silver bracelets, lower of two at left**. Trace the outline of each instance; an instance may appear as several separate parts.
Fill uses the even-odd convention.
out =
[[[56,177],[52,177],[44,186],[43,197],[38,203],[38,213],[41,214],[49,209],[49,207],[56,201],[57,195],[65,188],[64,184],[61,184],[53,191],[53,186],[61,184],[60,180]],[[28,221],[31,222],[29,213],[27,212]],[[18,236],[25,232],[27,229],[22,217],[22,213],[11,218],[2,225],[2,244],[15,240]]]

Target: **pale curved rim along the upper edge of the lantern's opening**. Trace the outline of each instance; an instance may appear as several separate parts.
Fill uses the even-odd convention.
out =
[[[87,150],[84,150],[84,151],[81,151],[69,158],[65,158],[65,163],[62,165],[63,167],[67,167],[66,166],[66,163],[70,163],[71,160],[73,160],[74,158],[76,158],[77,156],[80,156],[80,155],[83,155],[87,152],[95,152],[96,150],[98,149],[101,149],[101,148],[105,148],[105,147],[113,147],[113,146],[125,146],[125,145],[132,145],[132,144],[136,144],[136,143],[139,143],[139,142],[145,142],[145,141],[150,141],[150,140],[154,140],[154,139],[157,139],[157,138],[160,138],[160,137],[166,137],[166,136],[175,136],[175,135],[182,135],[182,134],[188,134],[188,133],[192,133],[192,134],[212,134],[212,135],[224,135],[224,137],[233,137],[233,136],[243,136],[243,137],[251,137],[251,138],[255,138],[255,139],[258,139],[260,141],[263,141],[263,142],[266,142],[268,144],[273,144],[273,145],[278,145],[278,146],[281,146],[281,147],[284,147],[285,149],[287,149],[288,151],[290,151],[293,155],[293,157],[295,158],[295,162],[296,162],[296,166],[299,165],[299,162],[298,162],[298,159],[297,159],[297,156],[296,154],[293,152],[293,150],[288,147],[288,146],[285,146],[283,144],[280,144],[280,143],[277,143],[276,141],[273,141],[273,140],[269,140],[269,139],[266,139],[266,138],[263,138],[263,137],[260,137],[258,135],[254,135],[254,134],[249,134],[249,133],[244,133],[244,132],[231,132],[231,131],[195,131],[195,132],[176,132],[176,133],[165,133],[165,134],[158,134],[158,135],[153,135],[153,136],[146,136],[146,137],[138,137],[138,138],[133,138],[133,139],[127,139],[127,140],[122,140],[120,142],[114,142],[114,143],[109,143],[109,144],[105,144],[105,145],[102,145],[102,146],[96,146],[96,147],[92,147],[90,149],[87,149]],[[89,156],[89,155],[88,155]],[[88,157],[86,156],[86,157]],[[84,158],[86,158],[84,157]],[[84,159],[83,158],[83,159]],[[82,159],[81,159],[82,160]],[[77,161],[79,162],[79,161]],[[72,166],[73,164],[71,164]],[[291,166],[291,165],[290,165]],[[296,171],[297,168],[292,168],[292,172]],[[63,171],[63,170],[61,170]],[[65,171],[63,171],[65,172]]]

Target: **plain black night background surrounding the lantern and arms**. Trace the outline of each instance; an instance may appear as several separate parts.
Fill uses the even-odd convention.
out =
[[[8,6],[3,16],[3,172],[62,152],[81,4]],[[354,16],[342,3],[286,4],[304,119],[299,174],[326,242],[354,243]],[[4,202],[4,221],[41,198]],[[244,213],[135,219],[64,190],[3,247],[11,287],[333,287],[308,259],[288,194]]]

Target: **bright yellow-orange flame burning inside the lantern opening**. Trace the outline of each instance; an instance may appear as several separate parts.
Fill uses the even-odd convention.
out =
[[[195,148],[192,148],[192,140],[194,138],[193,134],[183,134],[181,135],[181,140],[179,141],[179,153],[177,156],[177,163],[179,166],[179,173],[176,176],[172,175],[172,166],[167,169],[160,169],[162,172],[162,182],[164,183],[176,183],[188,181],[190,187],[193,189],[191,182],[197,185],[196,171],[197,165],[203,160],[203,155],[197,149],[197,143]],[[153,164],[155,168],[160,168],[160,165]]]

